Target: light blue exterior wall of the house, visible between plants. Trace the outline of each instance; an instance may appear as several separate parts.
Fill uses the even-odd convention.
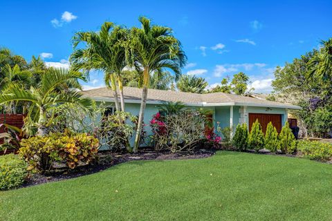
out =
[[[113,106],[112,103],[106,103],[106,105]],[[190,109],[201,108],[199,106],[188,106]],[[219,122],[219,126],[221,128],[225,128],[230,126],[230,106],[211,106],[211,107],[203,107],[206,110],[213,111],[213,124],[214,128],[217,127],[217,122]],[[246,106],[244,108],[246,111],[243,113],[243,106],[233,106],[233,131],[237,127],[237,124],[242,123],[241,120],[246,119],[246,123],[248,124],[248,115],[249,113],[268,113],[268,114],[280,114],[282,115],[282,126],[284,126],[287,121],[287,110],[286,108],[266,108],[266,107],[258,107],[258,106]],[[132,115],[139,114],[140,104],[125,104],[125,111],[131,113]],[[153,115],[158,112],[158,105],[156,104],[147,104],[145,109],[145,124],[149,124]],[[244,115],[243,115],[244,114]],[[242,117],[242,119],[241,119]],[[249,126],[249,125],[248,125]],[[147,135],[151,135],[151,128],[149,126],[145,127],[145,131],[147,131]],[[234,134],[234,132],[233,132]],[[133,145],[134,137],[131,139],[131,145]]]

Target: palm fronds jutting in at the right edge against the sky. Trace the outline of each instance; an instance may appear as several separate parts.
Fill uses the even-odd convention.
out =
[[[332,80],[332,38],[321,41],[322,48],[309,61],[309,77],[316,75],[322,81]]]

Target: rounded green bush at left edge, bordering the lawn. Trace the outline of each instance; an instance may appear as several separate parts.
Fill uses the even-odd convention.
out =
[[[0,156],[0,190],[13,189],[23,184],[27,175],[26,162],[17,155]]]

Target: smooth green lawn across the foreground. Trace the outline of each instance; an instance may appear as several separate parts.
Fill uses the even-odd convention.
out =
[[[221,151],[0,192],[0,220],[332,220],[332,165]]]

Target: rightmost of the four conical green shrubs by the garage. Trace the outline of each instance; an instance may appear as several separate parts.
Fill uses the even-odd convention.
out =
[[[289,128],[288,122],[286,122],[285,126],[282,127],[282,132],[279,135],[280,140],[280,150],[283,153],[294,153],[296,148],[296,140]]]

